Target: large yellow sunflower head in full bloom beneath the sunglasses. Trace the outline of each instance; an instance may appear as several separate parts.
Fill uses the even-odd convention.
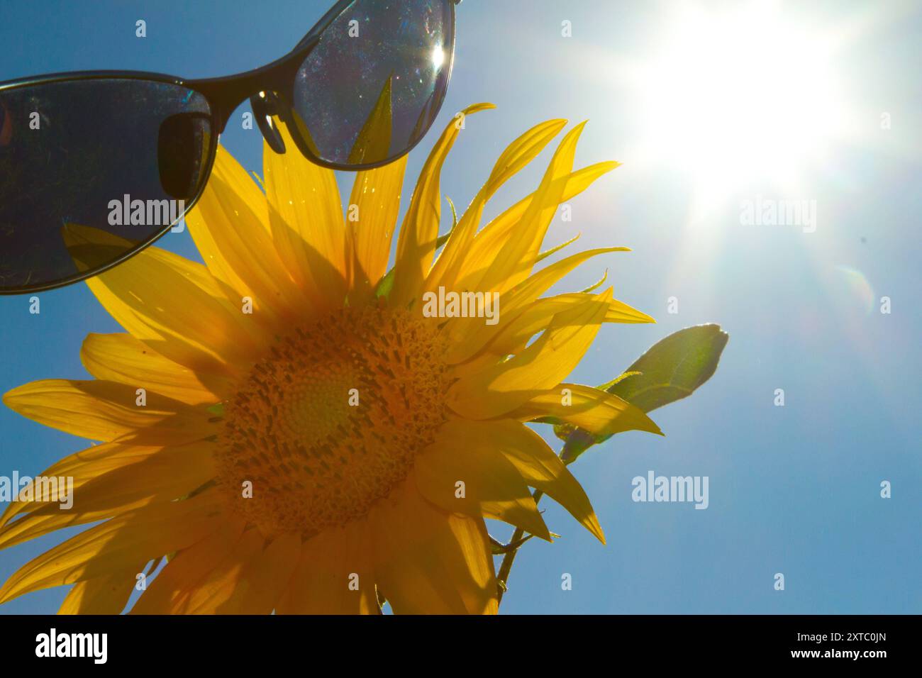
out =
[[[561,202],[618,163],[573,171],[578,125],[538,189],[480,228],[566,121],[536,125],[440,238],[439,177],[463,119],[420,172],[390,271],[406,159],[359,172],[344,216],[333,172],[264,147],[260,183],[219,151],[187,219],[204,265],[151,247],[88,281],[125,330],[84,341],[94,378],[32,382],[4,402],[98,444],[41,474],[73,478],[73,507],[13,502],[0,545],[96,524],[22,566],[0,602],[73,585],[62,613],[120,613],[135,588],[134,613],[379,613],[384,600],[396,613],[495,613],[484,518],[550,541],[529,488],[604,542],[582,487],[526,422],[659,432],[620,398],[564,382],[602,323],[652,318],[610,289],[542,296],[626,248],[536,269]],[[74,252],[114,238],[68,233]],[[427,292],[444,291],[495,295],[500,314],[423,313]]]

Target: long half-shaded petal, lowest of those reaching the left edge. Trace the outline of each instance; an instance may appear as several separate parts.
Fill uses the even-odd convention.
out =
[[[0,588],[0,603],[31,591],[104,577],[172,553],[214,531],[220,520],[214,492],[113,517],[20,567]]]

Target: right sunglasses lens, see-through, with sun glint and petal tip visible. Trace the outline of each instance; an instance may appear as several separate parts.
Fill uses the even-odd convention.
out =
[[[294,85],[294,122],[341,165],[394,159],[439,112],[454,53],[451,0],[356,0],[326,27]]]

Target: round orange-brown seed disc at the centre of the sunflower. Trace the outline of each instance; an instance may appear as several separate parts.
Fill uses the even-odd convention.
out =
[[[218,480],[231,505],[268,533],[364,516],[445,421],[443,352],[431,322],[384,307],[279,339],[225,406]]]

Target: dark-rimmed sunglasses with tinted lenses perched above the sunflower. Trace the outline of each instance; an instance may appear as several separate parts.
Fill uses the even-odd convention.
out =
[[[334,170],[408,153],[448,87],[460,0],[339,0],[286,56],[196,80],[136,71],[0,84],[0,294],[84,280],[136,255],[207,184],[249,99],[267,145]]]

